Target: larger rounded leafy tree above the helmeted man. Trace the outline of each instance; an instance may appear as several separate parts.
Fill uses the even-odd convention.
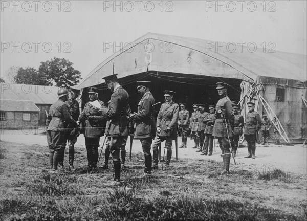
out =
[[[70,87],[80,82],[81,73],[72,67],[73,63],[69,60],[54,57],[50,61],[40,63],[40,76],[51,80],[55,86]]]

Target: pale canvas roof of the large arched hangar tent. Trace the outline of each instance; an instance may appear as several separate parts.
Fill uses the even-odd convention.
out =
[[[152,49],[148,48],[148,44]],[[249,82],[256,81],[258,77],[292,80],[277,81],[277,84],[285,85],[307,81],[307,56],[301,54],[264,50],[260,46],[252,52],[252,45],[248,48],[233,42],[156,33],[147,33],[125,45],[100,63],[79,87],[103,83],[102,77],[112,73],[118,73],[118,77],[123,78],[147,71],[236,78]],[[150,61],[149,64],[146,60]]]

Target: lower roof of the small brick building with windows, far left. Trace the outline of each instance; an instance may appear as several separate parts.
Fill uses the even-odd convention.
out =
[[[0,100],[0,111],[40,112],[30,100]]]

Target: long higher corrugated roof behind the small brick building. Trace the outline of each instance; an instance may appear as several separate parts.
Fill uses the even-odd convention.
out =
[[[35,104],[53,104],[57,101],[59,87],[31,84],[0,83],[0,98],[30,100]]]

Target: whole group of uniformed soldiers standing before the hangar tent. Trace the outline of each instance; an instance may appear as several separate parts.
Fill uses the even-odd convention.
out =
[[[121,185],[121,170],[125,169],[125,146],[129,134],[129,121],[135,125],[134,139],[139,139],[142,145],[145,161],[144,176],[151,176],[151,170],[158,169],[159,145],[163,141],[165,141],[166,149],[165,169],[169,169],[173,138],[181,134],[181,147],[187,148],[189,130],[191,130],[191,139],[195,143],[193,148],[198,148],[197,151],[202,152],[202,155],[212,155],[214,137],[217,138],[224,162],[222,174],[229,173],[230,154],[232,151],[235,156],[242,133],[248,143],[246,158],[255,158],[256,134],[262,125],[260,116],[254,111],[255,104],[249,102],[247,103],[249,113],[244,123],[243,116],[238,112],[238,105],[231,102],[227,96],[227,84],[217,83],[216,89],[220,100],[215,106],[208,106],[209,113],[205,112],[204,104],[193,104],[194,112],[191,117],[185,109],[185,103],[178,105],[173,101],[175,92],[164,91],[165,103],[161,105],[156,122],[153,117],[156,103],[149,89],[149,81],[137,81],[137,89],[142,98],[138,103],[138,112],[131,114],[129,94],[119,84],[117,74],[109,75],[103,79],[108,89],[113,92],[108,105],[100,101],[97,90],[90,87],[88,92],[90,101],[85,104],[81,113],[76,100],[80,95],[80,89],[71,87],[70,97],[67,90],[60,89],[58,91],[58,101],[50,107],[46,120],[52,173],[64,170],[64,150],[67,142],[69,145],[68,170],[75,171],[73,165],[74,144],[81,133],[85,137],[87,172],[96,173],[100,137],[105,135],[107,142],[105,162],[102,168],[108,168],[109,156],[112,154],[114,180],[109,185]],[[179,111],[179,107],[181,111]],[[271,123],[267,118],[264,119],[263,136],[265,137]]]

